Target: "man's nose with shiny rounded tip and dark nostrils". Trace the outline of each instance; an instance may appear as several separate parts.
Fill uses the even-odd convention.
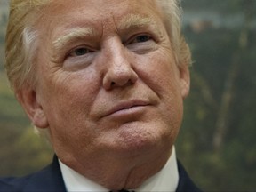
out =
[[[132,68],[131,60],[129,61],[128,53],[121,43],[113,43],[108,46],[106,54],[107,72],[103,77],[103,87],[105,90],[111,90],[116,87],[128,86],[135,84],[138,75]]]

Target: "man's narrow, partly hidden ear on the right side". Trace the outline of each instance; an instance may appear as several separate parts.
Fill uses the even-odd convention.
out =
[[[187,65],[179,67],[180,70],[180,93],[183,99],[188,96],[190,89],[190,74]]]

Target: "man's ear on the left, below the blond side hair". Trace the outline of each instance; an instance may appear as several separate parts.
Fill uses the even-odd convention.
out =
[[[17,91],[16,98],[20,101],[32,124],[38,128],[47,128],[49,126],[44,109],[37,100],[36,91],[32,89],[30,84],[24,85]]]

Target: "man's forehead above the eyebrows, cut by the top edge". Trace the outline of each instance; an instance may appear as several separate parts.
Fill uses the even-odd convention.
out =
[[[156,17],[160,15],[155,0],[52,0],[44,7],[44,18],[72,25],[79,20],[101,22],[120,20],[128,14]],[[47,18],[49,20],[47,20]]]

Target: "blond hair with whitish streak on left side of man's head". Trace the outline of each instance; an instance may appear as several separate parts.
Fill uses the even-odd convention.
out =
[[[11,0],[5,36],[5,69],[14,91],[26,82],[36,84],[37,34],[34,28],[38,10],[49,0]]]

